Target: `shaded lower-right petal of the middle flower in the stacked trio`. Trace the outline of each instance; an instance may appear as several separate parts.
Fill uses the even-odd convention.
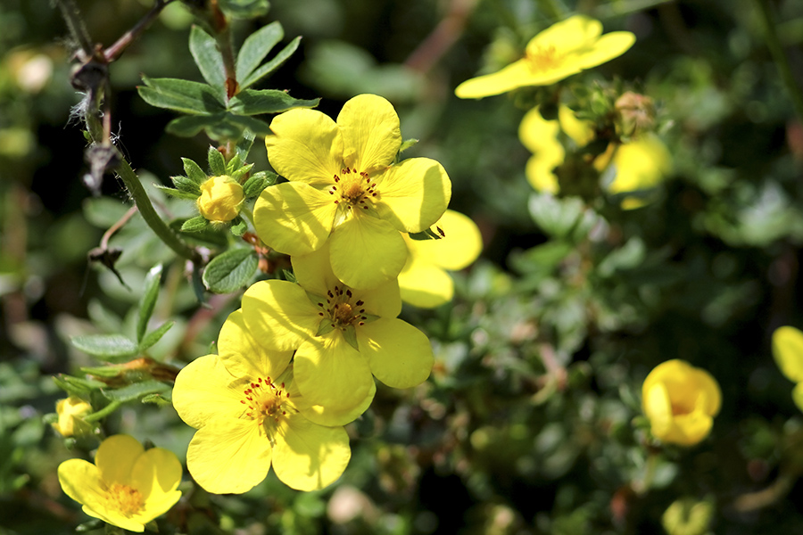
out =
[[[426,334],[401,319],[380,318],[357,331],[360,353],[371,372],[392,388],[411,388],[426,381],[434,357]]]

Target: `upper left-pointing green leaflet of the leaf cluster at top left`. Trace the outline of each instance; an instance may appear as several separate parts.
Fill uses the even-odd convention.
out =
[[[210,86],[190,80],[176,78],[142,78],[145,86],[138,86],[142,99],[168,110],[182,111],[197,115],[215,113],[223,110],[224,100],[220,100]]]

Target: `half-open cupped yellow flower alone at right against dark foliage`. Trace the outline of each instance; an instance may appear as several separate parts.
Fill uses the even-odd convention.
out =
[[[682,446],[708,436],[721,402],[716,379],[680,359],[656,366],[642,385],[642,407],[652,434]]]

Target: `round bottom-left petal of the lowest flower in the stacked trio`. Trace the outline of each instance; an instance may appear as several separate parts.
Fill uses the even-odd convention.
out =
[[[186,467],[204,490],[240,494],[258,485],[270,469],[268,437],[251,419],[214,418],[195,432]]]

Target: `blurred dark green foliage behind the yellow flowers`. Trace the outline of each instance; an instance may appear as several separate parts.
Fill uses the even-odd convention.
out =
[[[78,4],[105,45],[151,5]],[[455,275],[451,304],[403,311],[433,340],[435,370],[412,391],[377,391],[349,428],[352,462],[341,481],[300,493],[271,475],[223,497],[186,481],[161,531],[646,533],[665,529],[667,509],[667,517],[703,517],[697,531],[664,522],[673,533],[803,529],[803,419],[770,352],[776,327],[803,325],[803,126],[759,5],[273,0],[266,15],[238,21],[238,45],[272,21],[285,29],[280,46],[302,36],[255,89],[320,97],[318,109],[333,116],[360,93],[390,100],[402,136],[420,140],[410,156],[448,170],[451,208],[480,226],[484,253]],[[453,96],[459,82],[514,59],[556,20],[552,9],[636,34],[630,52],[584,79],[620,78],[658,104],[675,171],[645,208],[534,196],[517,137],[526,110],[508,96]],[[787,0],[771,9],[799,92],[803,6]],[[182,157],[206,161],[210,141],[165,133],[178,115],[145,103],[137,86],[143,74],[203,80],[187,48],[192,21],[170,4],[111,67],[116,142],[176,219],[194,215],[191,203],[152,185],[182,175]],[[66,36],[47,0],[0,5],[2,533],[66,533],[86,520],[55,469],[94,446],[65,444],[43,419],[64,396],[53,375],[99,366],[70,337],[146,338],[140,296],[157,264],[161,289],[147,332],[175,324],[146,350],[155,362],[180,367],[206,354],[238,306],[237,293],[223,293],[199,307],[185,262],[138,217],[110,242],[122,250],[116,268],[125,284],[87,263],[128,204],[113,177],[103,196],[82,183],[85,140],[70,126],[80,96],[69,83]],[[254,146],[254,169],[268,169],[261,140]],[[234,238],[216,239],[223,248]],[[657,448],[641,417],[643,378],[671,358],[708,370],[723,390],[711,437],[691,449]],[[133,399],[106,431],[183,456],[193,430],[170,406]]]

